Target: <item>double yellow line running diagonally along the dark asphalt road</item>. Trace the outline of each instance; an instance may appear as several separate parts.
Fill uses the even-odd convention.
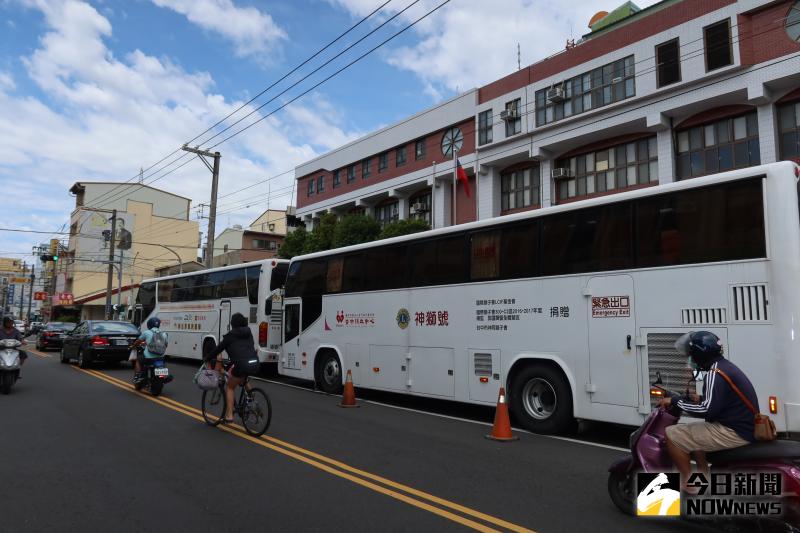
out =
[[[166,398],[164,396],[154,397],[149,394],[141,393],[135,390],[133,385],[130,383],[114,378],[97,370],[83,370],[75,366],[72,368],[78,370],[79,372],[89,374],[97,379],[103,380],[110,385],[132,392],[163,407],[172,409],[173,411],[205,423],[202,412],[199,409],[171,398]],[[227,431],[231,435],[250,441],[264,448],[268,448],[287,457],[291,457],[292,459],[301,461],[331,475],[346,479],[361,485],[362,487],[402,501],[424,511],[441,516],[442,518],[452,520],[453,522],[459,523],[476,531],[494,532],[504,529],[508,531],[535,533],[531,529],[508,522],[502,518],[481,513],[480,511],[476,511],[469,507],[445,500],[444,498],[439,498],[438,496],[434,496],[433,494],[409,487],[408,485],[404,485],[402,483],[392,481],[391,479],[360,470],[341,461],[325,457],[324,455],[301,448],[300,446],[296,446],[289,442],[276,439],[275,437],[264,435],[260,438],[256,438],[245,433],[243,428],[238,425],[221,425],[218,427],[223,431]],[[473,518],[482,520],[487,524],[491,524],[492,526],[496,526],[501,529],[494,529],[493,527],[473,520]]]

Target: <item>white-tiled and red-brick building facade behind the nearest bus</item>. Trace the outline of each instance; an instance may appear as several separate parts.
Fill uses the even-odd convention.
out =
[[[665,0],[297,167],[297,215],[486,219],[800,157],[800,2]]]

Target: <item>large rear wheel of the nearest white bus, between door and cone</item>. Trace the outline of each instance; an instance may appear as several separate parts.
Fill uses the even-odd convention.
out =
[[[535,433],[564,433],[574,423],[569,383],[546,364],[529,365],[516,373],[509,402],[517,421]]]

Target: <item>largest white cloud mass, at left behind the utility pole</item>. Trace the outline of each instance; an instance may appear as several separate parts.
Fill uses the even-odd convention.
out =
[[[29,0],[26,5],[44,15],[46,30],[23,65],[46,97],[12,92],[13,78],[0,71],[0,182],[13,184],[4,188],[4,202],[25,211],[10,225],[55,231],[74,208],[67,194],[73,182],[131,178],[241,105],[214,93],[209,73],[187,72],[140,50],[116,57],[105,43],[112,35],[110,22],[87,3]],[[226,142],[218,148],[223,156],[220,195],[353,138],[342,123],[334,107],[316,95]],[[208,202],[210,182],[208,170],[192,161],[153,185],[188,196],[196,205]],[[270,188],[290,192],[293,183],[290,173]],[[226,198],[229,205],[251,206],[231,213],[231,223],[251,222],[266,207],[266,191],[263,185]],[[293,200],[276,193],[271,206],[281,208]],[[227,216],[217,224],[220,231]],[[30,251],[45,237],[0,233],[0,250]]]

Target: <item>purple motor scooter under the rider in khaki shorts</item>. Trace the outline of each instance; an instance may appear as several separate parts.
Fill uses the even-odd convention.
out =
[[[608,469],[608,494],[622,512],[635,515],[637,490],[636,474],[639,472],[676,472],[667,451],[666,428],[678,423],[680,409],[674,404],[686,398],[660,387],[663,382],[657,374],[653,391],[657,396],[672,398],[669,408],[658,407],[645,419],[644,423],[631,434],[631,455],[619,459]],[[743,527],[742,531],[757,531],[757,527],[775,531],[800,533],[800,442],[776,440],[756,442],[739,448],[709,452],[706,458],[714,472],[765,472],[779,473],[782,483],[782,514],[777,517],[759,518],[720,518],[726,527]],[[716,520],[716,519],[712,519]]]

